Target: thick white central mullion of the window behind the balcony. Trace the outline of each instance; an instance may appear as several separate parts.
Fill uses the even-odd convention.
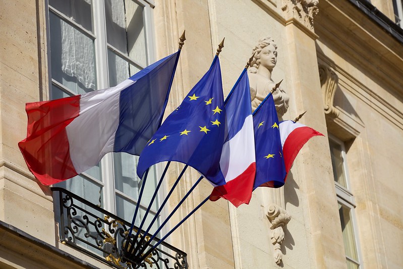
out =
[[[105,5],[103,0],[93,1],[95,39],[95,62],[97,88],[104,89],[109,86],[108,60],[106,45]],[[104,206],[109,212],[116,213],[114,202],[112,154],[106,154],[101,160],[102,179],[104,182]]]

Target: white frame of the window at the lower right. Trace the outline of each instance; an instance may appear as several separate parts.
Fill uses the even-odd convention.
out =
[[[346,259],[357,263],[359,265],[358,267],[362,268],[361,246],[360,246],[360,240],[358,238],[357,220],[356,220],[356,213],[355,213],[356,202],[354,199],[354,195],[351,191],[349,169],[347,167],[346,146],[344,145],[344,142],[342,140],[336,138],[335,136],[333,136],[331,134],[329,134],[329,140],[340,145],[340,148],[341,148],[341,157],[343,159],[343,173],[344,173],[344,178],[346,179],[347,188],[342,186],[341,184],[337,183],[336,181],[334,181],[334,188],[336,190],[337,202],[350,209],[350,217],[351,217],[353,233],[354,233],[354,243],[355,243],[355,247],[356,247],[356,251],[357,251],[357,258],[358,258],[358,260],[355,260],[352,257],[349,257],[346,255]]]

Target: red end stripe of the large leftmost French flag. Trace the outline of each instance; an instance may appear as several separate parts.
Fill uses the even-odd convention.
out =
[[[27,138],[18,146],[32,174],[43,185],[76,176],[65,128],[80,114],[80,95],[27,103],[25,110]]]

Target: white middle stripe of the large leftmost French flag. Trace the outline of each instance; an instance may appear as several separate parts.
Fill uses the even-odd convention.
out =
[[[113,150],[120,92],[134,83],[127,79],[115,87],[81,95],[80,115],[66,127],[70,158],[77,173],[97,165]]]

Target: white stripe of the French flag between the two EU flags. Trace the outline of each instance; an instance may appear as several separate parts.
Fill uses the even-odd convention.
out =
[[[222,147],[220,168],[225,182],[241,175],[254,162],[256,160],[253,118],[249,115],[242,129]]]

